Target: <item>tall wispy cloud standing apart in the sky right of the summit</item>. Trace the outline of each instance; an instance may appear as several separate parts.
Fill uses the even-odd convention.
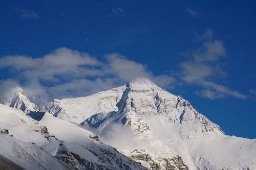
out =
[[[233,96],[246,99],[246,95],[214,81],[227,75],[221,66],[221,59],[226,57],[223,42],[214,39],[210,29],[197,37],[201,41],[201,45],[197,50],[189,53],[186,61],[180,63],[181,76],[179,79],[188,85],[199,86],[201,90],[197,90],[195,93],[204,98],[218,99]]]

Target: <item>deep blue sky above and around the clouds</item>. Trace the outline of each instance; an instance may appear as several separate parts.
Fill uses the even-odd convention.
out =
[[[190,11],[190,12],[189,12]],[[221,40],[226,72],[214,82],[246,99],[207,99],[197,85],[181,83],[180,94],[228,135],[256,138],[256,3],[253,1],[1,1],[0,57],[38,58],[66,46],[103,60],[119,53],[147,65],[154,75],[176,75],[186,58],[180,52],[200,48],[199,35],[211,29]],[[14,78],[0,69],[0,80]]]

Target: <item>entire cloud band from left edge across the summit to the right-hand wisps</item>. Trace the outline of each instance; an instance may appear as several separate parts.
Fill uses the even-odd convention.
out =
[[[167,90],[180,85],[193,86],[196,87],[195,94],[211,100],[226,96],[246,99],[247,95],[219,83],[227,76],[222,62],[227,55],[223,42],[215,39],[211,29],[196,38],[198,48],[180,53],[185,59],[178,63],[180,69],[175,75],[155,75],[146,65],[118,53],[106,54],[99,59],[61,47],[39,58],[26,55],[1,57],[0,70],[12,74],[11,79],[0,80],[0,85],[22,86],[29,98],[39,105],[53,99],[107,90],[135,78],[148,78]]]

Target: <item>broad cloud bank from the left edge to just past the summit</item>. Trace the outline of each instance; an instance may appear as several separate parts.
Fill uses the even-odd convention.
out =
[[[174,83],[172,77],[155,76],[145,65],[119,54],[106,55],[103,61],[99,61],[66,47],[40,58],[5,56],[0,58],[1,68],[17,72],[16,81],[23,82],[30,99],[40,104],[54,98],[84,96],[110,89],[137,77],[151,79],[166,88]]]

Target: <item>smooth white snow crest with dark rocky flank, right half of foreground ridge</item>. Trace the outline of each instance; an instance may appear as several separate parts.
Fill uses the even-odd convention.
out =
[[[144,169],[140,164],[120,154],[116,149],[98,142],[89,136],[93,133],[46,113],[39,124],[48,127],[49,132],[66,141],[67,148],[83,159],[107,169]],[[96,169],[94,167],[93,169]]]

